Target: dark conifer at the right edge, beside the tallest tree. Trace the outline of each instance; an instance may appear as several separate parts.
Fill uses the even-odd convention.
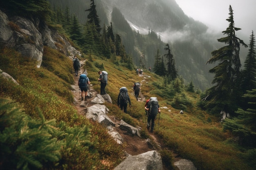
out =
[[[249,44],[249,52],[245,59],[245,69],[242,71],[243,91],[256,88],[256,53],[255,53],[255,37],[252,31]]]

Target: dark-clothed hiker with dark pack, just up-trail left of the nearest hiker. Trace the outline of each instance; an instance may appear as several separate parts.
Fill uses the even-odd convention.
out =
[[[119,95],[117,97],[117,105],[118,105],[118,107],[120,105],[121,110],[123,110],[123,108],[124,108],[124,113],[127,113],[128,102],[131,107],[131,101],[130,101],[130,97],[128,95],[128,90],[126,87],[121,87],[120,91],[119,91]]]

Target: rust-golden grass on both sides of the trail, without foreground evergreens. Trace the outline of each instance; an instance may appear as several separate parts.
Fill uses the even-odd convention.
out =
[[[70,59],[47,47],[45,47],[42,67],[39,69],[31,65],[29,59],[19,57],[15,51],[9,49],[1,51],[0,58],[1,63],[8,63],[5,61],[10,60],[14,67],[1,64],[1,69],[12,75],[20,84],[14,86],[12,83],[4,81],[5,84],[1,83],[0,86],[0,97],[10,97],[20,102],[26,113],[34,117],[36,117],[34,108],[39,106],[46,119],[63,120],[71,125],[88,124],[88,121],[76,115],[76,110],[72,105],[70,85],[74,83],[74,80],[72,79],[72,61]],[[121,64],[117,66],[110,60],[102,60],[93,56],[93,62],[87,61],[85,68],[91,83],[94,84],[94,89],[98,92],[97,78],[99,75],[97,72],[101,68],[94,65],[98,66],[102,63],[104,70],[109,73],[107,92],[112,98],[113,104],[106,105],[110,108],[110,114],[134,126],[143,127],[141,133],[147,136],[143,123],[144,102],[137,102],[132,96],[132,84],[140,82],[144,78],[137,76],[135,71],[130,71]],[[164,139],[170,150],[179,153],[183,158],[191,159],[200,170],[250,170],[245,165],[245,161],[238,157],[240,151],[236,145],[229,142],[229,134],[222,132],[222,126],[218,120],[196,108],[198,95],[185,92],[183,89],[182,94],[185,94],[191,106],[181,115],[179,114],[180,110],[167,104],[170,101],[157,95],[159,89],[153,84],[163,84],[163,79],[153,73],[146,72],[145,74],[150,77],[147,77],[147,83],[142,83],[143,95],[146,98],[156,96],[159,99],[160,107],[168,107],[167,110],[162,109],[158,134]],[[132,108],[128,109],[129,114],[124,114],[117,106],[117,95],[122,86],[126,86],[130,94]],[[101,130],[98,126],[92,126],[92,130],[99,133],[99,140],[108,139],[108,136],[103,135],[105,130]],[[106,146],[109,146],[108,149],[105,149]],[[108,160],[108,168],[111,169],[120,162],[117,157],[121,157],[121,148],[116,148],[115,141],[108,139],[97,147],[99,147],[98,152],[102,155],[98,159]],[[162,151],[162,153],[163,159],[171,159],[171,152]],[[99,167],[102,168],[102,166]]]

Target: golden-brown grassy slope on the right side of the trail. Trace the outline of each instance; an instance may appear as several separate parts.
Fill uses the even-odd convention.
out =
[[[131,117],[126,117],[117,107],[117,95],[119,88],[126,86],[129,94],[132,94],[132,85],[134,82],[141,81],[143,77],[136,75],[135,71],[130,71],[124,67],[116,66],[110,61],[94,59],[94,62],[104,64],[104,68],[109,73],[108,94],[113,100],[110,113],[119,116],[122,119],[134,125],[143,125],[144,102],[137,102],[135,97],[130,95],[132,102]],[[88,73],[94,75],[95,70],[89,67]],[[191,159],[195,166],[201,170],[241,170],[250,169],[243,159],[238,156],[240,151],[238,146],[229,141],[230,134],[222,131],[222,125],[218,123],[218,118],[208,115],[196,107],[200,100],[199,95],[182,90],[185,97],[191,103],[186,112],[181,115],[180,110],[172,108],[163,97],[155,93],[156,87],[153,82],[161,84],[164,80],[153,73],[146,72],[147,83],[142,82],[142,90],[146,98],[156,96],[159,99],[160,107],[167,106],[168,109],[162,109],[160,117],[159,137],[162,137],[166,146],[179,153],[186,159]],[[93,82],[96,84],[97,82]],[[115,111],[117,110],[117,111]],[[171,110],[170,112],[168,110]],[[144,127],[145,128],[145,127]],[[145,132],[145,129],[142,130]],[[167,155],[162,155],[168,157]]]

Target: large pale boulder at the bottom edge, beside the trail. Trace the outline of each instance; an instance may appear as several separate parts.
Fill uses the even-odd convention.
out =
[[[114,170],[163,170],[162,158],[155,150],[135,156],[130,155]]]

